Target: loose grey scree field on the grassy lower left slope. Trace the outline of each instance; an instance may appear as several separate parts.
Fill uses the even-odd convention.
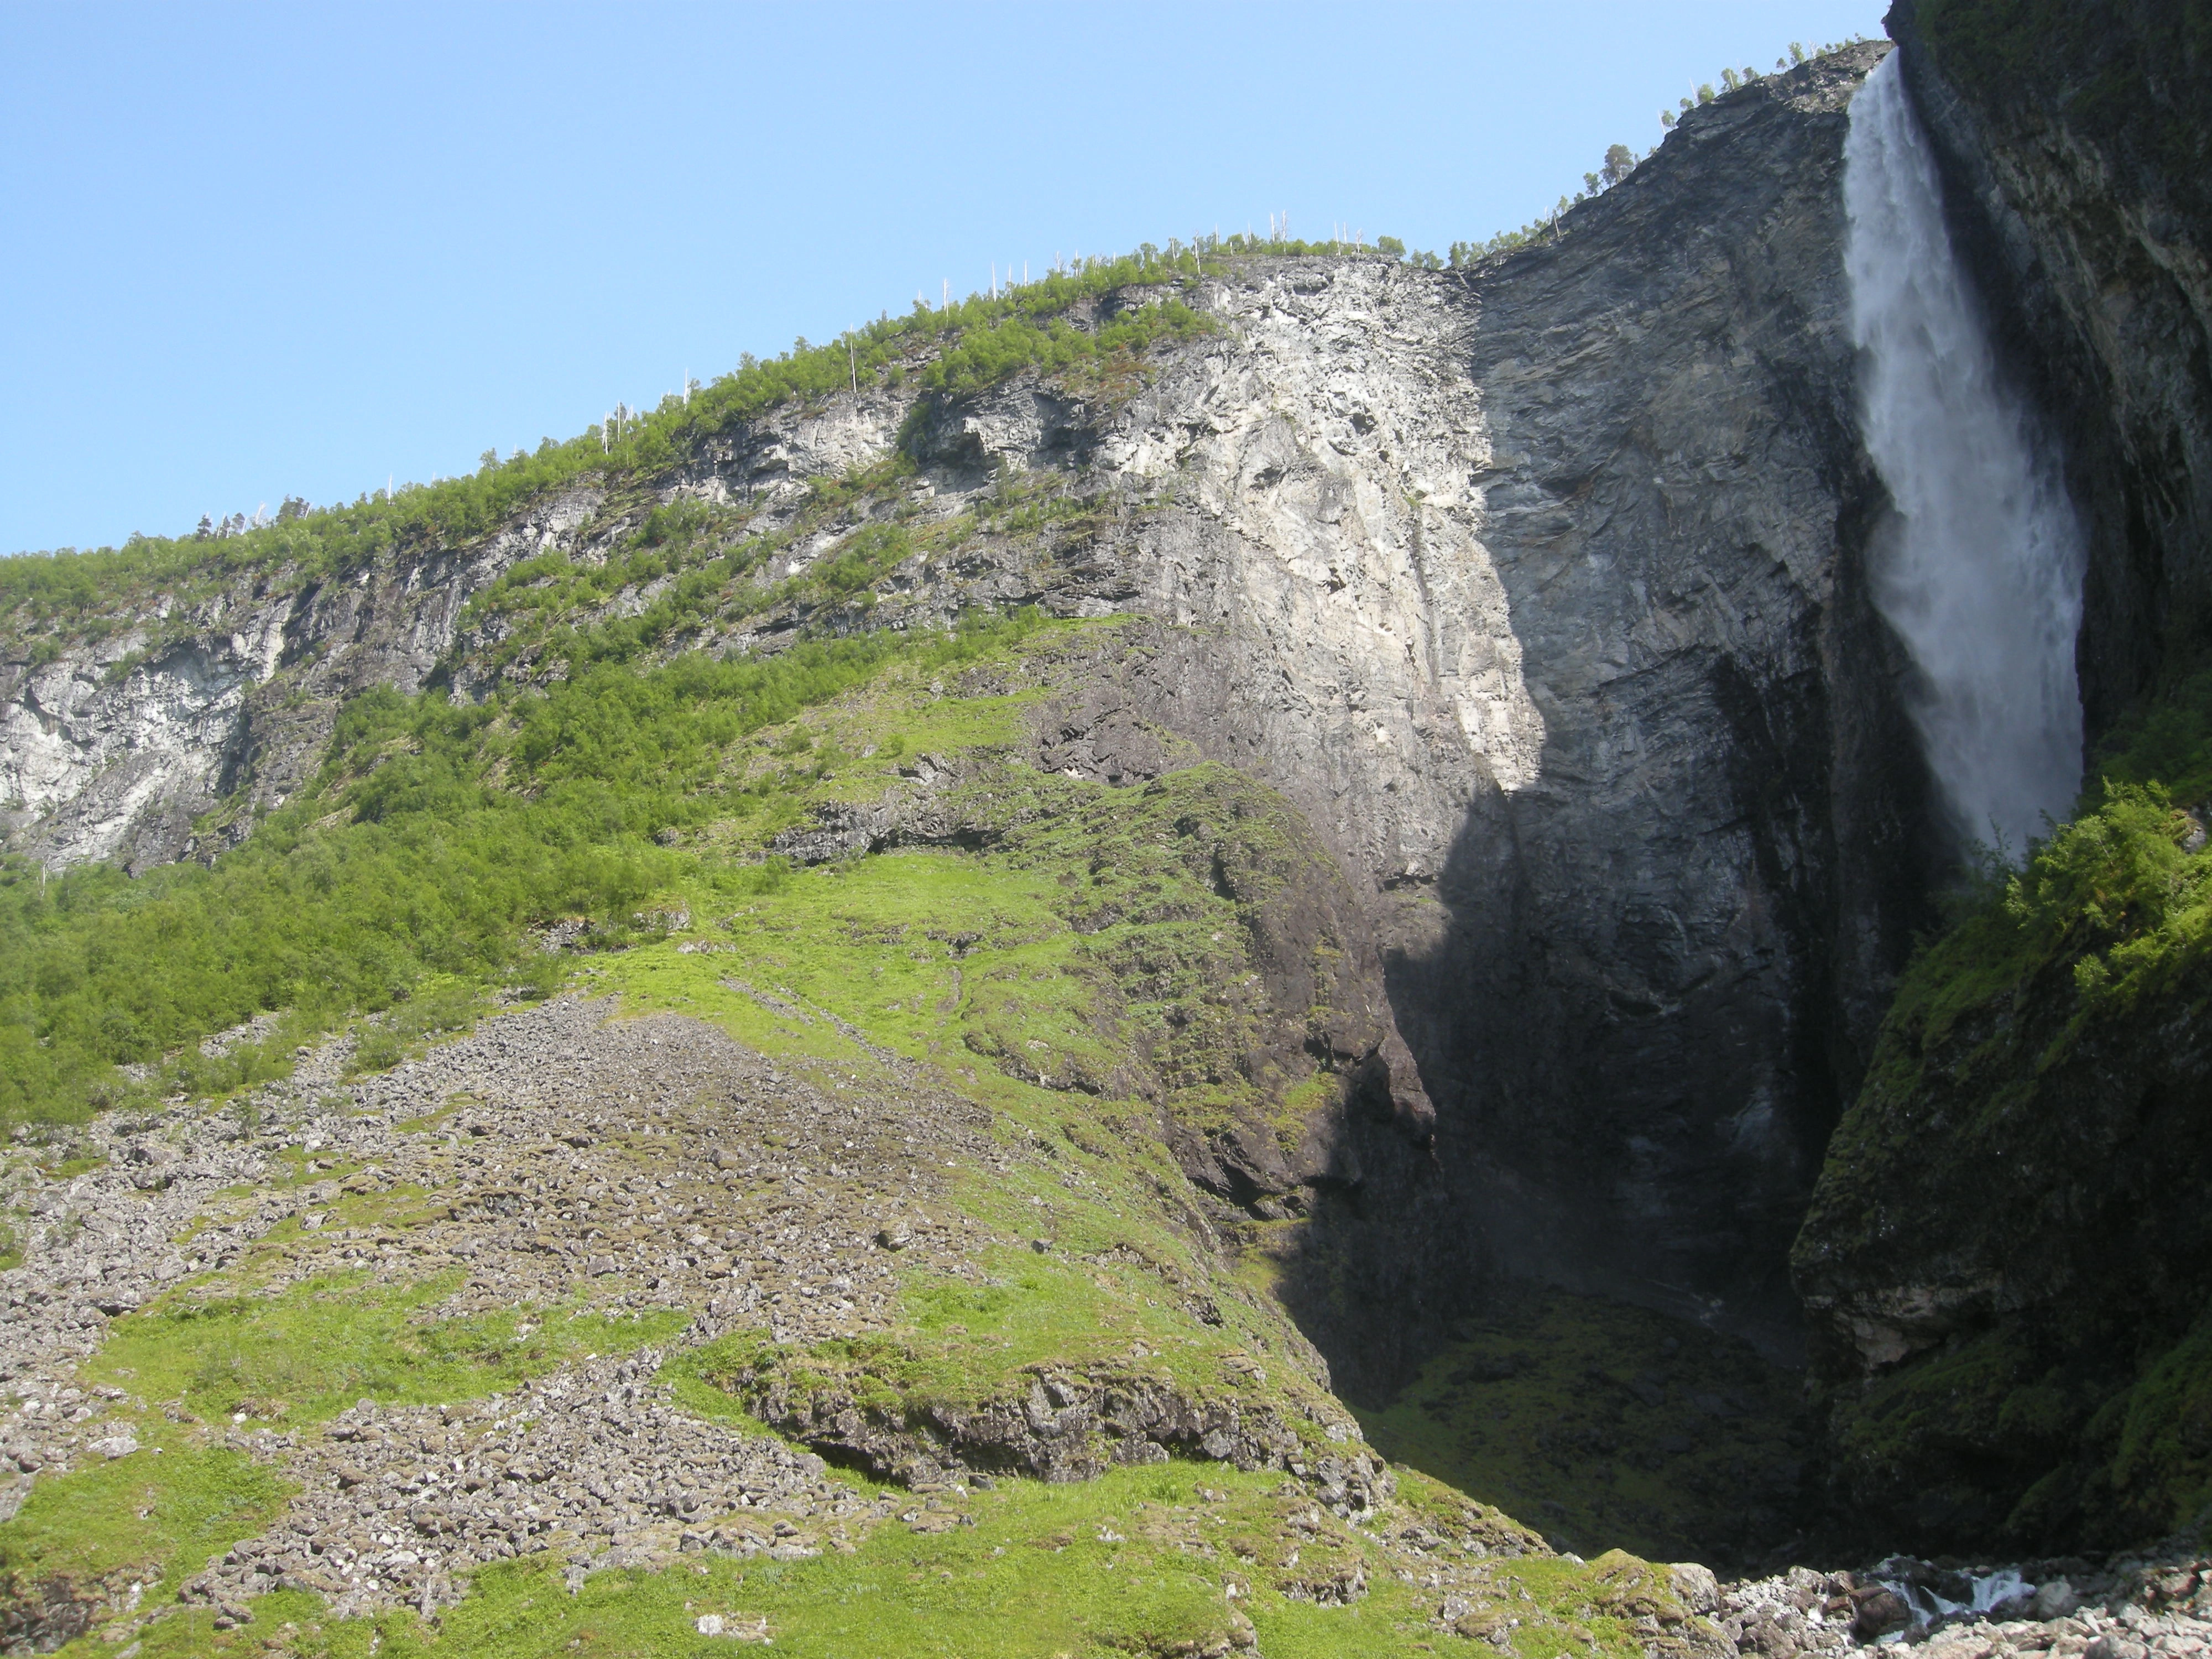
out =
[[[33,1221],[24,1263],[0,1274],[0,1383],[15,1396],[0,1509],[33,1478],[146,1455],[108,1420],[144,1402],[86,1391],[75,1369],[113,1316],[204,1274],[217,1276],[208,1294],[237,1294],[232,1274],[281,1294],[332,1274],[400,1287],[458,1272],[425,1318],[679,1310],[686,1345],[732,1327],[814,1343],[887,1325],[880,1232],[898,1237],[900,1267],[978,1274],[989,1239],[942,1199],[949,1170],[1004,1157],[987,1113],[896,1075],[823,1088],[697,1020],[608,1013],[575,998],[526,1006],[349,1084],[341,1040],[228,1113],[88,1126],[71,1150],[104,1164],[64,1183],[18,1166],[7,1197]],[[653,1380],[661,1358],[595,1356],[442,1409],[363,1400],[319,1427],[250,1411],[208,1427],[299,1495],[181,1599],[232,1617],[243,1597],[292,1586],[341,1617],[431,1608],[491,1559],[564,1551],[575,1584],[697,1551],[796,1557],[887,1511],[812,1453],[677,1409]]]

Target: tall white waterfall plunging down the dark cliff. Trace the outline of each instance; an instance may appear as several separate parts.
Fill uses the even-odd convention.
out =
[[[1951,827],[2017,858],[2081,783],[2081,526],[1997,376],[1896,53],[1851,100],[1843,204],[1860,425],[1896,502],[1874,602],[1918,668],[1909,708]]]

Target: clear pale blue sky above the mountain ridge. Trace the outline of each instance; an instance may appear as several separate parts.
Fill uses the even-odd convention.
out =
[[[0,551],[571,436],[989,263],[1524,223],[1882,0],[0,0]]]

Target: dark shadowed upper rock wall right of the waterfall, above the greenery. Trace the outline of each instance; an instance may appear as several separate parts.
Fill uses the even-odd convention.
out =
[[[2212,606],[2212,201],[2201,153],[2170,148],[2203,144],[2208,84],[2199,53],[2172,46],[2181,27],[2168,4],[2097,13],[2017,75],[1953,80],[1911,0],[1889,15],[1953,239],[2086,520],[2093,734]],[[2084,95],[2115,84],[2128,88],[2117,102]]]

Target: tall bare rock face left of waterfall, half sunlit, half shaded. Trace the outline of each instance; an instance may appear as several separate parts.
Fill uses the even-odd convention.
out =
[[[1077,763],[1141,772],[1133,728],[1164,726],[1367,891],[1462,1225],[1778,1349],[1918,918],[1840,270],[1843,111],[1880,51],[1697,113],[1473,279],[1223,283],[1225,341],[1095,442],[1148,511],[1064,604],[1172,630],[1102,670]]]

